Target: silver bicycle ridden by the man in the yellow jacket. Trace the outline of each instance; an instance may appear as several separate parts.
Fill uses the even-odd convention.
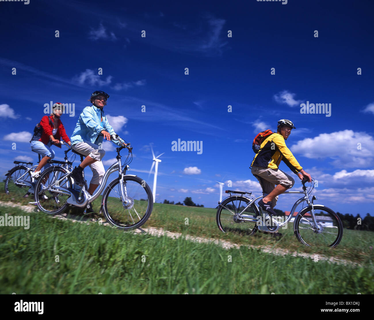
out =
[[[257,230],[275,233],[281,227],[294,219],[294,235],[309,247],[336,247],[343,236],[343,224],[339,216],[324,205],[314,204],[317,197],[310,193],[314,188],[314,179],[307,191],[305,181],[302,181],[303,191],[285,191],[282,194],[303,194],[292,206],[289,216],[282,221],[282,217],[272,217],[263,211],[255,202],[263,196],[252,196],[251,192],[226,190],[230,196],[218,202],[217,226],[222,232],[235,232],[253,235]],[[232,194],[232,193],[237,193]],[[300,203],[307,206],[297,215],[294,212]]]

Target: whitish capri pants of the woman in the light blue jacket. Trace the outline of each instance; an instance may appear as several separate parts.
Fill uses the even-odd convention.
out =
[[[78,142],[77,144],[72,145],[71,148],[85,156],[89,156],[92,159],[97,160],[89,165],[92,170],[92,179],[90,183],[101,184],[102,177],[105,173],[101,159],[105,156],[105,150],[100,149],[98,145],[95,145],[89,141]]]

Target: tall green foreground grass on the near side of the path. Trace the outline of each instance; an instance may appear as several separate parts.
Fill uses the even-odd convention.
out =
[[[157,207],[153,218],[160,214],[162,206]],[[195,208],[186,226],[188,209],[191,211],[180,208],[181,215],[165,218],[172,220],[168,224],[174,221],[185,228],[180,230],[184,235],[191,233],[188,228],[195,225],[194,217],[202,219],[204,212]],[[0,214],[5,213],[28,215],[18,208],[0,206]],[[28,230],[0,227],[0,233],[2,294],[373,293],[370,256],[363,261],[366,268],[315,263],[244,246],[225,250],[184,238],[126,233],[97,223],[52,219],[43,213],[30,214]]]

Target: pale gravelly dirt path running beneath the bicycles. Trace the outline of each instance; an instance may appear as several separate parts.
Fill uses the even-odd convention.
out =
[[[10,201],[9,202],[0,201],[0,205],[1,206],[11,206],[11,207],[20,208],[20,209],[22,209],[26,212],[40,212],[39,209],[35,205],[24,206],[24,205],[20,205],[18,203],[10,202]],[[101,219],[96,220],[96,219],[89,218],[89,217],[86,217],[86,216],[82,217],[82,215],[70,214],[69,218],[67,218],[67,216],[68,216],[68,214],[62,213],[62,214],[51,216],[51,218],[57,218],[57,219],[61,219],[61,220],[71,220],[73,222],[80,222],[80,223],[87,223],[87,224],[102,223],[104,226],[109,226],[110,225],[109,223],[104,222],[105,220],[101,222],[100,221]],[[133,230],[132,232],[134,232],[134,233],[148,233],[150,235],[158,236],[158,237],[166,235],[166,236],[168,236],[169,238],[172,238],[172,239],[177,239],[180,236],[183,236],[182,233],[171,232],[171,231],[168,231],[168,230],[164,230],[162,228],[154,228],[154,227],[140,228],[140,229]],[[214,244],[220,245],[224,249],[230,249],[230,248],[238,248],[239,249],[240,248],[240,245],[229,242],[229,241],[224,241],[224,240],[202,238],[202,237],[196,237],[196,236],[190,236],[190,235],[186,235],[185,238],[189,241],[196,241],[196,242],[203,242],[203,243],[211,243],[212,242]],[[333,258],[333,257],[326,257],[326,256],[321,256],[321,255],[315,255],[315,254],[292,252],[292,251],[289,251],[289,250],[286,250],[286,249],[273,248],[271,246],[250,245],[250,246],[248,246],[248,248],[260,249],[263,252],[272,253],[272,254],[276,254],[276,255],[280,255],[280,256],[290,254],[291,256],[294,256],[294,257],[310,258],[310,259],[313,259],[314,262],[327,260],[329,262],[333,262],[333,263],[337,263],[337,264],[362,266],[359,263],[348,261],[348,260],[341,260],[341,259],[336,259],[336,258]]]

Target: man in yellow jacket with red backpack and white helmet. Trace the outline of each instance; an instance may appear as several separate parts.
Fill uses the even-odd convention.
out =
[[[310,174],[303,170],[285,144],[292,129],[296,128],[291,121],[279,120],[277,132],[261,143],[260,150],[251,163],[252,174],[260,182],[263,192],[267,193],[258,204],[272,215],[276,215],[273,208],[278,201],[278,195],[292,188],[295,183],[291,176],[279,169],[282,160],[300,180],[305,179],[311,182]]]

